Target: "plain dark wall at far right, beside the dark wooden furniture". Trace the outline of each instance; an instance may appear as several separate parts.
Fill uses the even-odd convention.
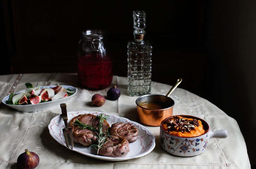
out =
[[[256,120],[256,1],[208,1],[205,53],[210,58],[207,97],[235,118],[256,167],[253,136]],[[239,152],[238,152],[239,153]]]

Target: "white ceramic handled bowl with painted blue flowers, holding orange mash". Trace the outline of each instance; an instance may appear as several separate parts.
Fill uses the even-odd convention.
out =
[[[227,138],[227,130],[225,129],[210,131],[208,123],[206,123],[203,119],[191,115],[179,116],[201,120],[204,126],[205,134],[195,137],[180,137],[169,134],[163,128],[163,123],[166,119],[172,118],[173,116],[164,119],[160,124],[160,141],[162,148],[170,154],[183,157],[195,156],[203,153],[206,150],[209,139],[213,137]]]

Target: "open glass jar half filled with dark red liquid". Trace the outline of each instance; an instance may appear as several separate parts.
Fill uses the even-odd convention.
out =
[[[107,53],[105,31],[88,29],[82,32],[78,49],[78,78],[88,90],[108,87],[113,79],[113,60]]]

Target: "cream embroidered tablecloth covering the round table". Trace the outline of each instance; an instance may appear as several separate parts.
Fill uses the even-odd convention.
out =
[[[45,85],[72,85],[78,88],[75,97],[67,103],[67,111],[98,111],[136,119],[136,96],[127,94],[126,77],[114,76],[111,86],[100,91],[89,91],[80,88],[77,74],[19,74],[0,76],[0,96],[25,89],[25,83]],[[106,100],[101,107],[90,106],[91,97],[95,93],[106,96],[107,90],[118,85],[121,96],[116,101]],[[166,95],[170,85],[152,82],[152,94]],[[60,107],[38,112],[18,112],[5,104],[0,104],[0,168],[15,168],[17,157],[26,148],[40,157],[37,169],[55,168],[207,168],[207,169],[249,169],[250,162],[246,144],[235,119],[225,114],[209,101],[187,90],[176,88],[170,96],[174,101],[173,114],[188,114],[204,119],[210,130],[226,129],[225,139],[212,138],[204,153],[193,157],[179,157],[165,152],[159,141],[159,127],[148,128],[156,137],[156,147],[149,154],[127,161],[109,162],[97,160],[67,149],[57,143],[49,134],[48,124],[51,119],[61,114]]]

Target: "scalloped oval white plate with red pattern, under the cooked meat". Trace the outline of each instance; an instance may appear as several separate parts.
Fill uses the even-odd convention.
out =
[[[71,120],[73,117],[79,114],[94,114],[99,115],[102,112],[88,112],[88,111],[79,111],[79,112],[68,112],[68,119]],[[84,154],[86,156],[106,160],[106,161],[124,161],[133,158],[142,157],[148,153],[150,153],[155,148],[155,136],[151,134],[149,130],[147,130],[143,125],[133,122],[127,118],[119,117],[113,114],[103,113],[104,115],[109,115],[107,119],[110,126],[113,123],[122,122],[122,123],[130,123],[133,124],[139,130],[138,139],[135,142],[129,143],[130,152],[125,157],[107,157],[96,154],[96,150],[92,147],[88,148],[87,146],[83,146],[81,144],[74,143],[73,151]],[[54,140],[56,140],[59,144],[66,147],[64,135],[62,129],[65,128],[64,121],[61,115],[57,115],[52,118],[50,124],[48,125],[49,132]],[[70,146],[70,150],[71,146]]]

